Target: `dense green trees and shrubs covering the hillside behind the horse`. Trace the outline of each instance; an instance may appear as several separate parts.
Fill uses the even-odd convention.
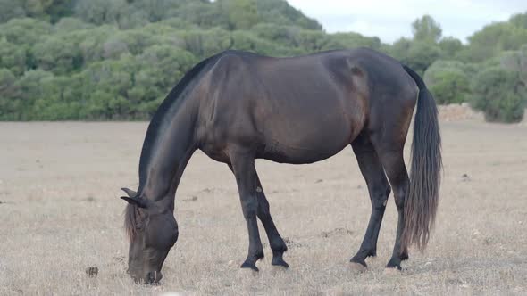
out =
[[[0,0],[0,119],[148,119],[194,64],[226,49],[273,56],[367,46],[424,75],[439,103],[523,116],[527,13],[463,45],[431,17],[393,45],[327,34],[283,0]]]

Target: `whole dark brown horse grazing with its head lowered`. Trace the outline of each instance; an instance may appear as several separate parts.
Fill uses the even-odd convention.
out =
[[[414,107],[411,176],[403,147]],[[272,265],[289,267],[281,238],[255,170],[255,159],[305,164],[325,160],[347,145],[366,180],[372,213],[359,251],[366,267],[389,193],[398,222],[387,267],[400,269],[408,247],[423,249],[439,198],[441,168],[437,108],[414,70],[366,48],[291,58],[227,51],[199,62],[155,112],[139,160],[137,193],[123,188],[129,204],[129,273],[157,283],[178,239],[174,197],[197,149],[229,166],[247,222],[248,254],[242,268],[258,270],[263,247],[256,218],[265,228]]]

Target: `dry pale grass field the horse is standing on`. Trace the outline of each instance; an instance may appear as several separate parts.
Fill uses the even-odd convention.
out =
[[[260,273],[240,272],[247,228],[235,180],[197,152],[176,196],[180,239],[162,284],[146,287],[125,273],[119,199],[122,186],[137,188],[146,123],[1,123],[0,295],[527,294],[527,125],[441,128],[437,226],[402,273],[383,272],[395,236],[392,196],[378,257],[363,274],[348,268],[370,214],[350,148],[313,165],[257,161],[291,268],[272,268],[265,244]],[[89,278],[87,267],[98,275]]]

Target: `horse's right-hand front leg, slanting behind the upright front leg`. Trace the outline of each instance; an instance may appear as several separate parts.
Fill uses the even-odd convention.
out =
[[[229,165],[229,169],[232,170],[232,166]],[[233,171],[234,172],[234,171]],[[263,193],[263,186],[256,173],[256,195],[258,197],[258,211],[257,216],[262,221],[263,228],[265,228],[265,233],[269,239],[269,244],[272,250],[272,261],[271,264],[281,267],[289,267],[289,264],[284,261],[283,253],[288,251],[288,246],[284,243],[284,240],[281,238],[278,229],[274,225],[274,221],[271,217],[271,211],[269,210],[269,201]]]

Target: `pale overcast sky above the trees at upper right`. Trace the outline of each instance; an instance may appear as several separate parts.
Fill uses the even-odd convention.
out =
[[[430,14],[443,29],[443,36],[465,42],[473,32],[492,21],[506,21],[527,12],[527,0],[288,0],[306,15],[318,20],[326,31],[354,31],[380,37],[391,43],[411,37],[411,23]]]

